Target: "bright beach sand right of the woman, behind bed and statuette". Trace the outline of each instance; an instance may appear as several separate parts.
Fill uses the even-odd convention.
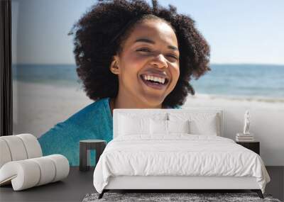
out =
[[[284,100],[261,101],[222,99],[214,96],[189,96],[184,107],[224,109],[224,137],[235,139],[244,128],[244,113],[251,113],[250,132],[260,141],[266,166],[284,166]]]

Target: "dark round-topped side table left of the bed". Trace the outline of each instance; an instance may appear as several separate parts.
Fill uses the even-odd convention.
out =
[[[80,140],[80,171],[89,170],[89,150],[96,150],[96,164],[107,142],[104,140]]]

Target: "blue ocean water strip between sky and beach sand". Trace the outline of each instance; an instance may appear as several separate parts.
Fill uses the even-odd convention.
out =
[[[211,64],[212,71],[190,81],[196,94],[284,99],[284,65]],[[80,86],[75,64],[13,64],[21,82]]]

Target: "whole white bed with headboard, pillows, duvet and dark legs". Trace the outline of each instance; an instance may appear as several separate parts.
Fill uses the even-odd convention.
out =
[[[115,109],[114,139],[94,169],[109,190],[250,189],[270,177],[259,155],[223,136],[222,108]]]

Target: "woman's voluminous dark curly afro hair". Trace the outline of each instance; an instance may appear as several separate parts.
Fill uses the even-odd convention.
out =
[[[173,91],[163,101],[163,108],[182,106],[188,94],[195,94],[190,85],[192,77],[198,79],[209,68],[209,45],[195,28],[195,21],[169,5],[166,9],[152,1],[151,7],[142,0],[98,1],[74,24],[74,53],[77,74],[82,80],[89,99],[111,97],[118,94],[119,79],[109,67],[131,28],[145,18],[160,18],[168,23],[178,38],[180,50],[180,77]]]

